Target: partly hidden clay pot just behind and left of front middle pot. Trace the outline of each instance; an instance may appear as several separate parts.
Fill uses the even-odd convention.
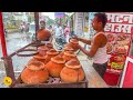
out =
[[[48,63],[51,58],[58,56],[59,52],[55,50],[55,49],[50,49],[48,52],[47,52],[47,56],[45,56],[45,62],[44,63]]]

